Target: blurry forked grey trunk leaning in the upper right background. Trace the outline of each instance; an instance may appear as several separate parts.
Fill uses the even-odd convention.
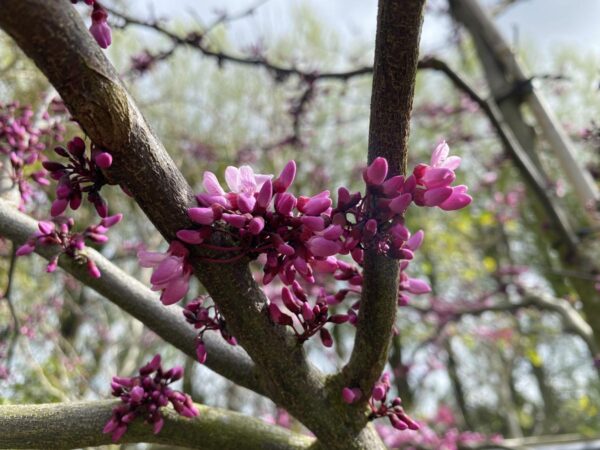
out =
[[[479,3],[476,0],[452,0],[450,7],[453,17],[465,25],[473,38],[493,98],[487,103],[495,111],[497,120],[506,124],[504,134],[513,142],[510,148],[518,150],[511,156],[543,206],[543,211],[540,211],[534,203],[533,210],[540,229],[545,230],[543,234],[546,242],[557,250],[561,265],[567,271],[600,274],[597,251],[594,251],[593,246],[581,245],[578,235],[571,229],[573,224],[569,224],[566,214],[546,188],[547,176],[535,152],[535,132],[524,119],[521,110],[523,104],[531,109],[539,129],[536,131],[540,132],[556,154],[561,171],[570,181],[579,202],[578,209],[586,212],[593,222],[598,220],[597,186],[590,174],[579,167],[574,159],[572,144],[561,125],[531,80],[525,77],[515,55]],[[537,177],[534,177],[536,173]],[[572,214],[570,219],[575,219]],[[594,333],[595,345],[600,347],[600,296],[595,282],[581,277],[571,277],[569,282],[583,303],[586,320]]]

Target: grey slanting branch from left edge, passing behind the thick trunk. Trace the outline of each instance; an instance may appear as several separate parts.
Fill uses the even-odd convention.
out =
[[[15,244],[22,244],[36,230],[35,220],[19,212],[6,200],[0,199],[0,235]],[[38,247],[36,251],[48,260],[56,254],[56,249],[48,247]],[[101,278],[91,277],[85,265],[78,265],[71,258],[61,257],[59,264],[79,281],[143,322],[165,341],[196,359],[196,332],[185,321],[180,307],[163,306],[155,292],[95,250],[86,248],[85,253],[102,272]],[[213,333],[206,333],[204,342],[209,353],[207,367],[241,386],[264,393],[254,364],[241,349],[231,347]]]

